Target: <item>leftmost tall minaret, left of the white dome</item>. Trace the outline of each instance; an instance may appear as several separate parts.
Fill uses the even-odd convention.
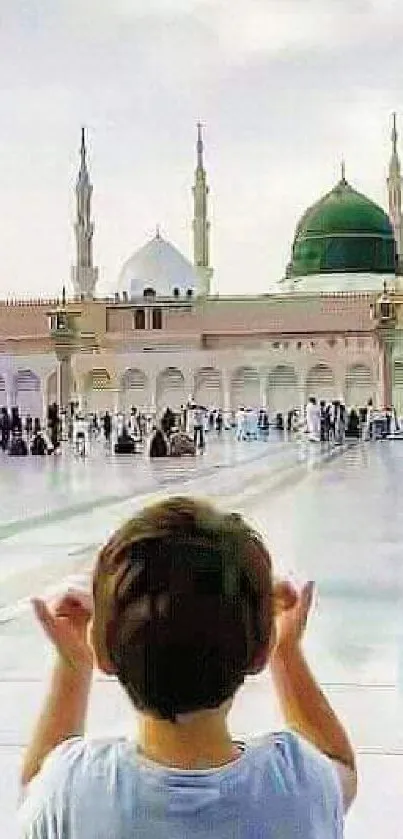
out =
[[[85,130],[81,129],[80,171],[76,184],[77,220],[74,225],[77,245],[77,263],[73,266],[71,277],[74,294],[84,300],[92,300],[98,280],[98,268],[92,261],[92,237],[94,225],[91,221],[92,185],[87,169],[87,149]]]

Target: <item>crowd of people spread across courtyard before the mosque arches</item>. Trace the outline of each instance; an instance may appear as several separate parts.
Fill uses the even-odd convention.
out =
[[[117,455],[148,451],[154,457],[196,455],[206,445],[207,435],[223,430],[235,432],[237,441],[267,439],[270,429],[286,431],[289,436],[306,433],[311,442],[339,445],[346,438],[378,439],[400,433],[393,408],[377,411],[371,399],[365,407],[349,409],[340,401],[326,402],[312,396],[305,411],[290,409],[286,415],[269,414],[267,408],[239,407],[232,414],[220,408],[207,408],[189,400],[179,411],[166,408],[161,418],[132,407],[130,412],[102,415],[85,414],[71,405],[59,412],[50,405],[46,422],[27,414],[21,417],[18,407],[0,411],[0,450],[12,456],[44,456],[60,451],[70,443],[73,451],[85,456],[91,443],[103,440]]]

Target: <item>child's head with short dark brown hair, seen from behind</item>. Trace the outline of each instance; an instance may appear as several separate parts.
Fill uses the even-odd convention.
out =
[[[231,700],[273,635],[270,555],[236,514],[190,498],[138,513],[101,550],[92,641],[134,706],[176,716]]]

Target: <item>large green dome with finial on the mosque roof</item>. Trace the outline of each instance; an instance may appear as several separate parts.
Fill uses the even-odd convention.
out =
[[[287,275],[395,270],[396,243],[388,216],[342,178],[300,220]]]

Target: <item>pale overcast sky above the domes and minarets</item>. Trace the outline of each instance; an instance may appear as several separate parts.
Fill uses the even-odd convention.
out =
[[[402,34],[401,0],[0,0],[0,296],[69,284],[82,124],[100,290],[157,223],[190,256],[198,120],[214,288],[268,290],[342,158],[386,206]]]

